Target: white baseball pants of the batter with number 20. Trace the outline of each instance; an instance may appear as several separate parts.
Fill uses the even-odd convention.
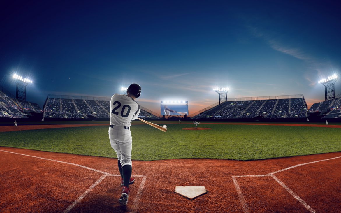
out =
[[[131,148],[132,137],[129,130],[125,130],[124,126],[109,127],[109,140],[111,147],[117,154],[118,161],[121,161],[122,167],[124,165],[131,165]]]

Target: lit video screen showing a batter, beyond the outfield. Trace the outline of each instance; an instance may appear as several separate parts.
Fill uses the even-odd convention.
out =
[[[187,116],[188,101],[161,101],[162,116]]]

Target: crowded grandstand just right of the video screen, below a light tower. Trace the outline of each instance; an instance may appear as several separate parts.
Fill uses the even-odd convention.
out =
[[[227,101],[194,116],[201,118],[305,118],[307,105],[303,98],[255,101]]]

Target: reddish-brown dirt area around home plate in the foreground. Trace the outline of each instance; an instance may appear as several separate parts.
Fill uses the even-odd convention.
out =
[[[338,212],[341,153],[235,161],[133,161],[127,207],[117,159],[0,147],[1,212]],[[175,186],[205,186],[188,200]]]

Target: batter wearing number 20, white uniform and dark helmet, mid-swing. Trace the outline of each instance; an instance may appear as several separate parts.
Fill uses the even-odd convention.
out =
[[[127,95],[114,94],[110,100],[110,145],[115,150],[118,159],[118,169],[121,174],[122,193],[118,200],[122,205],[127,205],[129,197],[129,184],[134,183],[131,178],[132,162],[131,149],[132,137],[130,122],[137,119],[140,105],[135,99],[141,95],[141,87],[133,83],[128,87]]]

